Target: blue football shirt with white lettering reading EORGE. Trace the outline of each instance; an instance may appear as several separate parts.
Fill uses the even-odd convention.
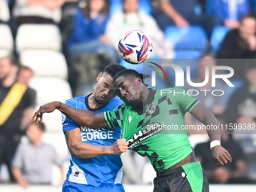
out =
[[[108,105],[101,108],[90,108],[88,105],[89,96],[80,96],[69,99],[66,104],[74,108],[80,108],[94,113],[111,111],[123,104],[118,98],[114,97]],[[87,126],[80,126],[62,114],[63,132],[80,128],[81,141],[90,145],[103,146],[114,145],[117,139],[121,138],[120,128],[102,128],[93,130]],[[70,166],[66,179],[78,184],[90,184],[98,187],[102,183],[120,184],[123,176],[122,161],[120,155],[105,155],[93,158],[72,157],[69,152]]]

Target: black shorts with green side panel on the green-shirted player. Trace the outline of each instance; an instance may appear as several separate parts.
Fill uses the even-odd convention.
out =
[[[154,192],[209,192],[209,182],[199,162],[157,173]]]

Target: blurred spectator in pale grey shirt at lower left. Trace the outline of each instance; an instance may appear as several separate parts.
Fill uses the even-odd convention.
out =
[[[42,141],[44,130],[44,123],[30,123],[26,130],[29,142],[20,144],[14,156],[14,177],[22,187],[29,187],[29,184],[50,184],[54,163],[61,170],[60,184],[64,181],[62,160],[52,145]]]

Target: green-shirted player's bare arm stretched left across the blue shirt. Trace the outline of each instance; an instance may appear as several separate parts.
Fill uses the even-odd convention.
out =
[[[35,120],[36,122],[42,121],[44,113],[51,113],[55,109],[58,109],[79,125],[90,126],[91,128],[102,128],[108,126],[108,123],[105,121],[104,114],[96,114],[90,111],[72,108],[62,102],[49,102],[45,105],[41,105],[32,117],[32,120]]]

